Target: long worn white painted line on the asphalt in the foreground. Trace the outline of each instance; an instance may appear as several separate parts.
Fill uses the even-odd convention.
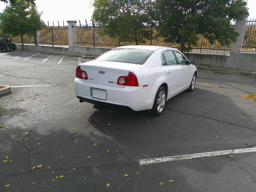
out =
[[[242,149],[230,149],[224,151],[212,151],[212,152],[205,152],[205,153],[194,153],[188,155],[177,155],[177,156],[169,156],[169,157],[156,157],[151,159],[140,159],[139,164],[152,164],[152,163],[162,163],[167,161],[177,161],[177,160],[184,160],[184,159],[194,159],[198,157],[209,157],[209,156],[219,156],[219,155],[227,155],[233,153],[246,153],[246,152],[256,152],[256,147],[253,148],[242,148]]]

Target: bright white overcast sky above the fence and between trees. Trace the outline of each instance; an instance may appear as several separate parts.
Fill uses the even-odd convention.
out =
[[[81,24],[85,24],[85,20],[91,20],[92,17],[92,1],[93,0],[36,0],[37,9],[42,12],[42,19],[47,24],[54,26],[67,25],[67,20],[81,21]],[[0,12],[5,8],[5,4],[0,2]],[[249,18],[256,18],[256,0],[248,0]]]

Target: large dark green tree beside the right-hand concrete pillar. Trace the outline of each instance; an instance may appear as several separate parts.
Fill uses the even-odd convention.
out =
[[[178,43],[180,50],[197,46],[198,34],[210,43],[235,42],[239,35],[229,27],[230,20],[241,20],[247,13],[244,0],[155,0],[150,15],[159,24],[165,42]]]

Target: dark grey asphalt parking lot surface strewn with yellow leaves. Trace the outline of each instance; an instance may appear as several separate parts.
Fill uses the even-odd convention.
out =
[[[255,152],[139,162],[254,147],[256,102],[241,95],[256,94],[256,78],[198,71],[194,92],[154,117],[79,103],[75,69],[88,59],[5,53],[0,191],[255,191]]]

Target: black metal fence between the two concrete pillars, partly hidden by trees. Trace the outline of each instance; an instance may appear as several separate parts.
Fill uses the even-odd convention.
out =
[[[234,27],[235,23],[232,22],[230,27]],[[158,36],[158,26],[145,26],[146,30],[150,31],[150,39],[144,39],[144,43],[139,45],[156,45],[173,47],[176,49],[180,48],[180,44],[166,43],[162,36]],[[108,47],[115,48],[124,45],[135,45],[135,42],[123,42],[118,43],[117,39],[111,38],[106,34],[103,34],[103,28],[101,26],[95,26],[94,24],[89,25],[77,25],[73,26],[74,45],[75,46],[91,46],[91,47]],[[224,46],[218,41],[211,44],[203,35],[198,35],[197,46],[193,47],[192,52],[198,53],[215,53],[215,54],[229,54],[231,45]]]

